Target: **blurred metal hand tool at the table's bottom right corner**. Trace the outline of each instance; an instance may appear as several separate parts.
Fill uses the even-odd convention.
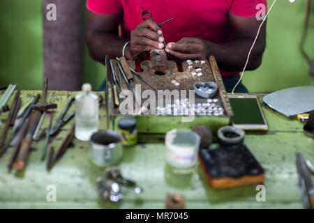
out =
[[[314,186],[304,158],[297,153],[297,171],[304,208],[314,209]]]

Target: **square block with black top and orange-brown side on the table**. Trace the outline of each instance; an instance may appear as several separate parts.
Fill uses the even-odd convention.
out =
[[[201,149],[199,160],[214,189],[264,182],[264,169],[245,145]]]

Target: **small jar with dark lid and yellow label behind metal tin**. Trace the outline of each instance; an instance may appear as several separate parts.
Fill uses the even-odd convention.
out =
[[[119,120],[119,132],[124,146],[137,144],[137,127],[135,118],[127,117]]]

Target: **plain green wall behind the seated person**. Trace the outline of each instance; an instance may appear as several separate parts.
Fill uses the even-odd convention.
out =
[[[268,1],[269,5],[272,1]],[[249,91],[271,92],[291,86],[314,85],[314,78],[308,75],[308,64],[298,48],[305,10],[306,0],[292,4],[288,0],[278,0],[269,15],[262,66],[244,76]],[[41,0],[0,1],[0,86],[17,82],[20,89],[41,88],[42,37]],[[313,13],[306,49],[314,59]],[[84,81],[97,89],[104,77],[104,67],[92,61],[86,50]]]

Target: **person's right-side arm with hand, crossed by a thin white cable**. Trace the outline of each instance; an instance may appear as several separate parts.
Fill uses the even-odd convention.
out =
[[[221,69],[230,72],[242,71],[262,21],[257,21],[255,17],[239,17],[232,13],[229,13],[229,18],[234,36],[231,42],[218,44],[201,38],[188,37],[182,38],[177,43],[168,43],[166,51],[182,61],[208,59],[209,56],[214,55]],[[247,70],[255,70],[260,66],[265,46],[266,25],[263,25],[251,53]]]

